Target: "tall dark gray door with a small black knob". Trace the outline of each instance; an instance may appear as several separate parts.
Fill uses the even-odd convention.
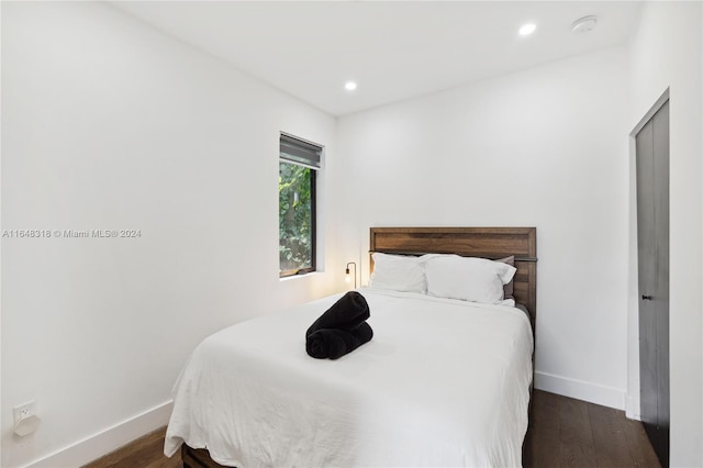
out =
[[[636,135],[640,415],[669,466],[669,102]]]

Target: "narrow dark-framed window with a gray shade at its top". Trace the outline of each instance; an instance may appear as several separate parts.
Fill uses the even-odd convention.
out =
[[[278,249],[281,277],[315,271],[315,178],[322,147],[281,133]]]

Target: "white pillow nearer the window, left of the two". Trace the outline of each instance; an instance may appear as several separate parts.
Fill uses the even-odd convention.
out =
[[[369,288],[425,292],[425,274],[417,257],[375,252],[371,258],[373,272],[369,279]]]

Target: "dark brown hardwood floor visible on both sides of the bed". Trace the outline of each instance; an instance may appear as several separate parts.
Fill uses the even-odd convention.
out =
[[[163,454],[165,428],[85,468],[172,468],[180,455]],[[637,421],[622,411],[535,390],[523,450],[525,468],[660,468]]]

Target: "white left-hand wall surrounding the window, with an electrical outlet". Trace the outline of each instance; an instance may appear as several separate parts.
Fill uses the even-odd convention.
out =
[[[333,118],[94,2],[2,2],[2,230],[142,232],[2,239],[3,467],[78,466],[165,424],[202,337],[344,285]],[[325,272],[287,281],[280,131],[327,151]],[[42,425],[15,437],[32,399]]]

